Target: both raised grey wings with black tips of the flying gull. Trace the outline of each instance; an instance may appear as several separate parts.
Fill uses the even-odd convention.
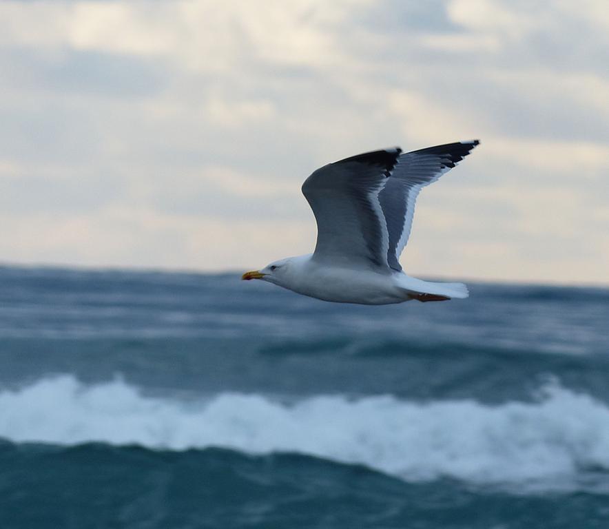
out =
[[[318,227],[313,259],[342,267],[400,271],[416,197],[478,141],[402,154],[398,147],[324,165],[302,185]]]

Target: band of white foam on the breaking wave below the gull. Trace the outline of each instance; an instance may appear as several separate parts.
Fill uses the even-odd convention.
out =
[[[65,375],[0,392],[0,437],[299,452],[409,481],[550,483],[582,468],[609,471],[609,407],[556,385],[544,388],[539,402],[498,406],[389,396],[318,396],[288,405],[238,393],[184,402],[144,396],[120,380],[86,386]]]

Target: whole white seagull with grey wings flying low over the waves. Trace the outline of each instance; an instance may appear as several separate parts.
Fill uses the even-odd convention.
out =
[[[315,251],[243,274],[299,294],[338,303],[382,305],[467,298],[463,283],[407,276],[408,242],[419,191],[467,156],[478,140],[402,154],[367,152],[317,169],[302,185],[317,222]]]

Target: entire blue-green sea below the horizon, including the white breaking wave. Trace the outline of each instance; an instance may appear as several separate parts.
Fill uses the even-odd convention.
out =
[[[609,528],[609,289],[469,287],[0,267],[0,528]]]

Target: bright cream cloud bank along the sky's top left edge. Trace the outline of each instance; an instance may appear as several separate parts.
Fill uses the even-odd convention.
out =
[[[363,0],[57,2],[0,6],[4,41],[105,53],[165,56],[195,70],[223,72],[240,59],[320,65],[340,59],[333,27]],[[12,22],[19,21],[17,26]],[[47,23],[47,21],[51,23]]]

